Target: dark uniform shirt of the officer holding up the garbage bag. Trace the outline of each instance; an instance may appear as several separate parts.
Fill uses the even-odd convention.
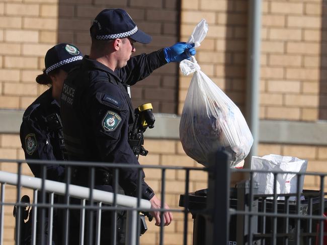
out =
[[[154,69],[166,64],[162,50],[131,57],[127,65],[115,72],[85,56],[81,65],[68,74],[61,94],[61,116],[69,159],[116,162],[139,165],[128,144],[129,126],[134,122],[134,109],[126,91]],[[87,170],[84,170],[84,172]],[[97,168],[96,179],[108,168]],[[83,171],[81,171],[83,172]],[[121,168],[119,184],[127,195],[137,189],[136,168]],[[144,182],[142,195],[154,195]],[[78,173],[78,184],[87,185],[86,175]]]

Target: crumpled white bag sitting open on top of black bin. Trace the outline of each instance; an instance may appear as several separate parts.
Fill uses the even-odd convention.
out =
[[[285,172],[305,172],[308,162],[304,159],[299,159],[293,156],[282,155],[265,155],[263,157],[252,156],[251,169],[265,171],[285,171]],[[254,173],[254,181],[259,183],[259,194],[274,193],[274,174],[273,173]],[[302,192],[304,176],[300,178],[300,192]],[[297,191],[297,176],[296,174],[278,174],[276,182],[277,194],[296,193]],[[271,198],[272,199],[272,198]],[[279,197],[278,200],[284,200],[284,197]],[[295,196],[289,200],[295,200]]]

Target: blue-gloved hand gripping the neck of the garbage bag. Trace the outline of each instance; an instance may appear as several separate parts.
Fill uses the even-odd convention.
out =
[[[191,55],[195,55],[196,51],[194,43],[179,42],[171,47],[163,49],[165,53],[165,59],[167,62],[180,62],[183,59],[191,59]]]

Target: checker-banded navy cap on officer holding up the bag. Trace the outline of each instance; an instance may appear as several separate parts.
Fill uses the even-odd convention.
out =
[[[91,29],[93,31],[91,32]],[[110,40],[130,37],[136,42],[149,43],[152,37],[139,30],[123,9],[105,9],[101,11],[90,28],[91,36],[97,40]]]

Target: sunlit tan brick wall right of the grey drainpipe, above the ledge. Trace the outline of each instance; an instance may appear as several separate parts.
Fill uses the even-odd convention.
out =
[[[264,1],[261,118],[319,119],[321,1]]]

